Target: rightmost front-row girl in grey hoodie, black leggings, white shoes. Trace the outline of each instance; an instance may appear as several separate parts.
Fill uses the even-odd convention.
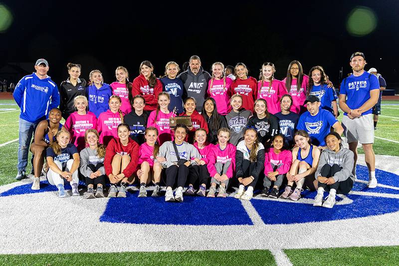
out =
[[[341,136],[337,132],[327,134],[325,141],[328,149],[320,155],[315,173],[319,182],[313,206],[333,208],[336,193],[348,194],[352,190],[355,181],[352,169],[355,161],[353,152],[342,147]],[[330,194],[323,203],[324,191],[329,191]]]

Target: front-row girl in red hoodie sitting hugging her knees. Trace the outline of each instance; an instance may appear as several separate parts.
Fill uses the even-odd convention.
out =
[[[117,131],[118,138],[112,139],[105,150],[105,174],[111,183],[108,198],[117,194],[118,198],[126,197],[126,185],[134,181],[132,175],[139,158],[139,145],[129,137],[129,125],[119,124]]]

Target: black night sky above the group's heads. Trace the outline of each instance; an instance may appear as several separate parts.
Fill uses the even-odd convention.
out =
[[[189,4],[189,2],[191,4]],[[304,2],[304,3],[302,3]],[[81,77],[90,70],[115,81],[123,65],[130,80],[140,62],[150,60],[155,74],[164,73],[168,61],[180,66],[193,54],[210,72],[215,61],[224,65],[244,62],[258,78],[264,61],[273,62],[275,77],[283,79],[291,60],[299,60],[308,74],[322,65],[338,86],[339,70],[351,72],[350,55],[360,50],[368,65],[387,82],[398,80],[399,30],[396,0],[363,1],[3,1],[11,11],[10,27],[0,33],[1,65],[46,58],[48,74],[60,84],[68,77],[68,62],[82,64]],[[377,26],[365,36],[347,30],[347,18],[359,6],[370,8]],[[381,59],[380,59],[381,58]],[[20,78],[20,77],[19,77]]]

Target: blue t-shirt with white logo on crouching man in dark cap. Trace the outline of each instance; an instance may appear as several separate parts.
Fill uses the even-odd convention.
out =
[[[308,111],[303,113],[299,118],[297,129],[308,132],[313,145],[326,146],[324,138],[336,122],[338,120],[332,113],[320,108],[315,116]]]

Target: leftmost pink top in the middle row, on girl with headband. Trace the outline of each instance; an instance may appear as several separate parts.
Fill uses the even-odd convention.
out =
[[[80,152],[86,147],[86,141],[84,139],[86,130],[97,128],[97,117],[92,112],[87,112],[85,115],[73,112],[66,119],[64,127],[71,133],[71,143],[73,143]]]

